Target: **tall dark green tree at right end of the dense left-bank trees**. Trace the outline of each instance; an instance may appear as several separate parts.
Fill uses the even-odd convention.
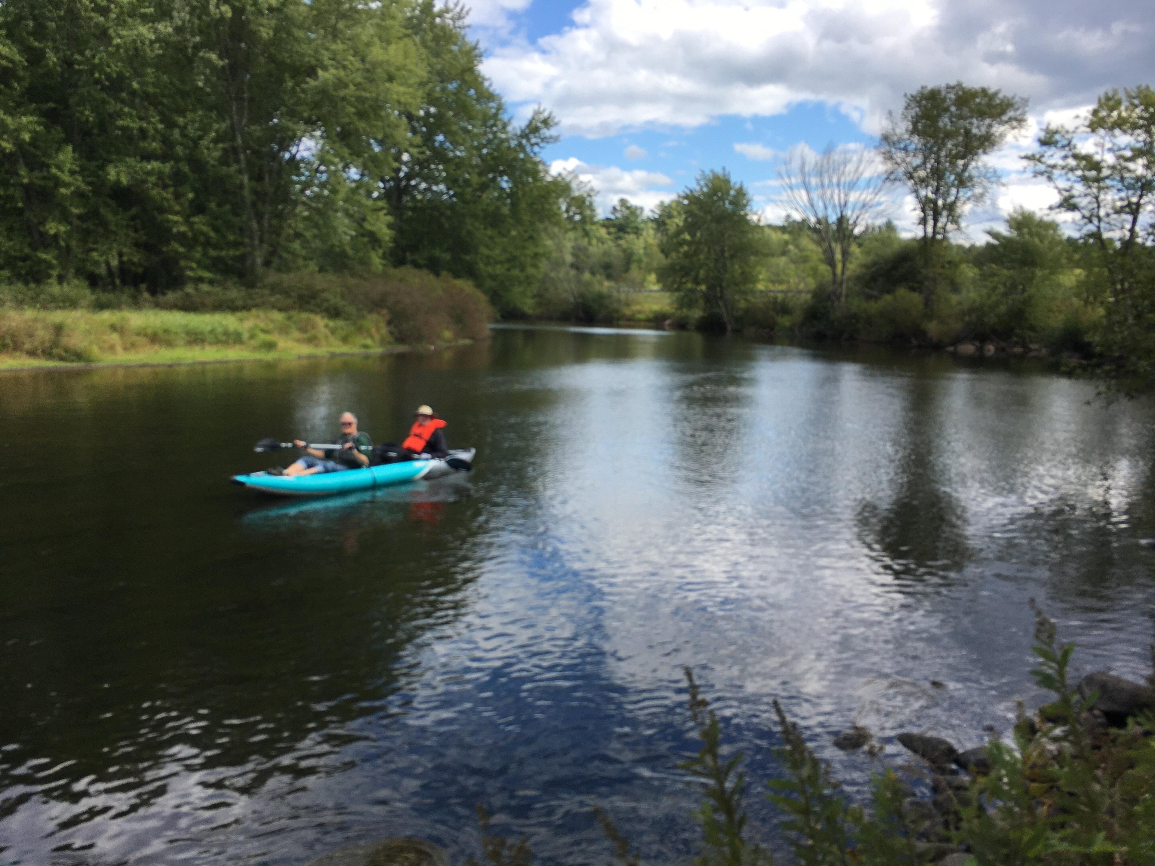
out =
[[[381,178],[393,261],[471,279],[502,314],[524,313],[573,193],[541,158],[554,119],[536,111],[522,126],[509,121],[465,15],[459,3],[420,0],[407,17],[427,65],[420,109],[403,113],[404,145]]]

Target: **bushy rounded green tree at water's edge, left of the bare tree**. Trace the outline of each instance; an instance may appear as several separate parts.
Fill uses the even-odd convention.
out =
[[[754,289],[765,256],[763,230],[750,193],[725,171],[702,172],[698,184],[658,214],[665,262],[658,277],[684,309],[716,314],[733,331],[738,305]]]

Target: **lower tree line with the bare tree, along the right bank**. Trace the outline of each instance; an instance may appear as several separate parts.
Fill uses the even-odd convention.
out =
[[[1155,91],[1109,91],[1080,121],[1044,129],[1024,159],[1057,192],[1056,218],[1018,210],[974,242],[966,217],[999,182],[990,157],[1026,118],[1027,100],[999,90],[921,88],[889,115],[877,148],[796,149],[781,160],[782,225],[762,224],[726,172],[703,172],[635,230],[656,257],[631,279],[661,285],[684,321],[718,330],[999,341],[1150,383]],[[914,238],[885,218],[896,194],[914,203]],[[612,247],[626,207],[603,221],[603,246]],[[572,246],[588,245],[589,226],[582,232],[571,230]],[[582,312],[597,308],[598,284],[603,308],[620,312],[605,288],[620,281],[595,269],[587,279]]]

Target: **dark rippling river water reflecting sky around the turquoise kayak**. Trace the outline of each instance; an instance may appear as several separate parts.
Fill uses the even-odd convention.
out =
[[[498,329],[430,354],[0,375],[0,863],[301,864],[383,836],[683,858],[693,666],[751,824],[778,699],[976,745],[1155,637],[1155,408],[1021,365]],[[277,502],[263,436],[432,403],[476,470]]]

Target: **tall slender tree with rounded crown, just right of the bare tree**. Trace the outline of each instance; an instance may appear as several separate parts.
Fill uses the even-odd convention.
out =
[[[904,180],[915,196],[927,312],[938,290],[940,246],[998,181],[985,157],[1026,122],[1024,98],[962,82],[907,94],[902,113],[889,114],[881,152],[892,176]]]

